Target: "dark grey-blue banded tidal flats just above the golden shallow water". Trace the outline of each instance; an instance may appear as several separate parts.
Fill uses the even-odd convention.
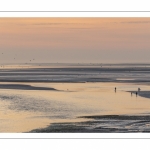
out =
[[[0,69],[0,82],[149,83],[150,66]]]

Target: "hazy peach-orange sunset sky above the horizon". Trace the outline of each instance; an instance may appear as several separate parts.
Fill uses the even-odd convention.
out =
[[[150,18],[0,18],[0,63],[30,62],[150,63]]]

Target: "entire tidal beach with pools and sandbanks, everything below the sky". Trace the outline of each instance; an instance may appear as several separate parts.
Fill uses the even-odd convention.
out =
[[[0,132],[150,132],[149,70],[149,64],[5,65]]]

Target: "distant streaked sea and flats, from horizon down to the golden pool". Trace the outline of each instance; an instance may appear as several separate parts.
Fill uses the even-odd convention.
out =
[[[150,64],[20,64],[0,67],[0,82],[150,82]]]

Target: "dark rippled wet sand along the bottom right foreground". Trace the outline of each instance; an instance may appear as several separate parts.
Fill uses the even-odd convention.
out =
[[[132,133],[150,132],[150,116],[83,116],[86,122],[53,123],[32,133]]]

